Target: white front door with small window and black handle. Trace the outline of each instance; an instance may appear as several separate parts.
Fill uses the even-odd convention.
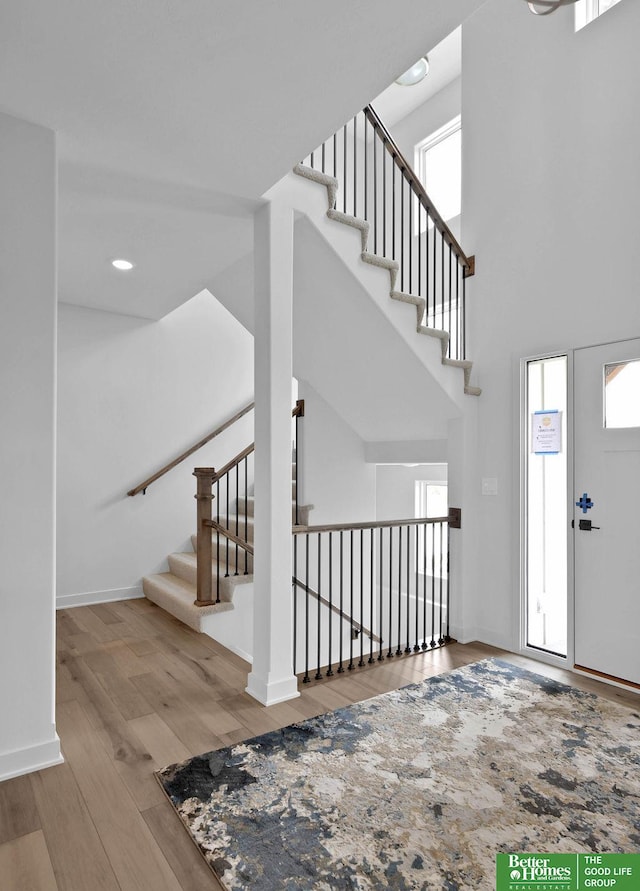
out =
[[[640,684],[640,339],[576,350],[574,400],[574,661]]]

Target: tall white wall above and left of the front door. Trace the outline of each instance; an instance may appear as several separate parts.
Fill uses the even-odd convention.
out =
[[[463,29],[463,244],[476,254],[477,634],[518,646],[518,367],[640,334],[640,4],[579,33],[491,0]],[[498,479],[480,497],[480,477]],[[464,523],[463,523],[464,526]],[[470,532],[467,525],[465,535]]]

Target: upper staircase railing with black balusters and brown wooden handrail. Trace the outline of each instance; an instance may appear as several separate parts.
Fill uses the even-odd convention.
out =
[[[399,263],[396,290],[425,301],[422,324],[449,333],[446,356],[466,358],[468,257],[393,137],[368,105],[305,164],[338,180],[338,211],[370,225],[368,250]]]

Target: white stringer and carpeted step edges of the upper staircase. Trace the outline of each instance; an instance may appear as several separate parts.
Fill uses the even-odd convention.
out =
[[[481,392],[470,383],[472,362],[446,358],[448,334],[421,324],[424,309],[422,298],[396,290],[398,264],[363,250],[367,246],[368,223],[328,208],[328,192],[332,193],[332,189],[324,181],[314,181],[307,168],[302,168],[304,173],[300,165],[296,169],[298,174],[287,174],[269,190],[265,198],[284,202],[314,226],[438,386],[462,410],[466,403],[464,395],[479,395]],[[327,178],[324,174],[322,176]],[[416,313],[414,324],[411,324],[408,310]],[[458,369],[463,371],[463,387],[460,386]]]

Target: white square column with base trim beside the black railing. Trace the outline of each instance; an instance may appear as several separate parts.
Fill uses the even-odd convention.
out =
[[[253,668],[264,705],[299,696],[293,674],[291,375],[293,210],[269,202],[254,220],[255,542]]]

